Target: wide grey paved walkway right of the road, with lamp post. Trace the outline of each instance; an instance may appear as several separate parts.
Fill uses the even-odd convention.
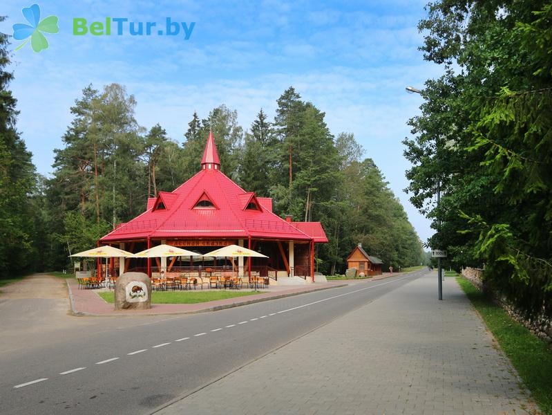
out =
[[[455,279],[446,278],[439,302],[436,278],[416,279],[159,413],[536,413]]]

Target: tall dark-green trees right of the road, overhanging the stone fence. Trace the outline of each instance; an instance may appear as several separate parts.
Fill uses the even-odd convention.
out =
[[[426,60],[405,140],[411,201],[447,266],[483,277],[527,315],[552,317],[552,2],[442,0],[419,24]],[[435,194],[441,190],[437,206]]]

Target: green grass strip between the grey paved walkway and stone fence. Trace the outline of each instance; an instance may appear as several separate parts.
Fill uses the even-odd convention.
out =
[[[531,391],[542,414],[552,415],[552,351],[468,280],[456,280]]]

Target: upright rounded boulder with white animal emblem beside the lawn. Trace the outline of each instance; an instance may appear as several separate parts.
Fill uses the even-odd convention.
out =
[[[115,310],[149,310],[151,280],[144,273],[124,273],[115,283]]]

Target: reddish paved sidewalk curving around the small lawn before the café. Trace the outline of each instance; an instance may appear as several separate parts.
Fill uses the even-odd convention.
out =
[[[346,285],[343,281],[331,281],[326,283],[307,284],[305,286],[276,286],[270,288],[266,293],[247,295],[247,297],[234,297],[228,299],[219,299],[216,301],[198,303],[198,304],[151,304],[150,310],[113,310],[113,304],[108,304],[104,301],[95,290],[79,289],[77,281],[68,279],[67,285],[71,308],[75,315],[158,315],[158,314],[183,314],[183,313],[199,313],[201,311],[213,311],[221,308],[229,308],[231,306],[240,306],[251,304],[254,302],[265,301],[267,299],[275,299],[280,297],[288,297],[289,295],[298,295],[310,293],[312,291],[323,290],[327,288],[336,288]],[[200,290],[198,290],[200,291]],[[244,289],[243,291],[247,291]]]

